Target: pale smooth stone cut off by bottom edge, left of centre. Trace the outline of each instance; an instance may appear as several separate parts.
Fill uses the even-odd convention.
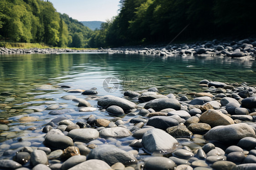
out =
[[[111,167],[102,160],[92,159],[75,165],[68,170],[111,170]]]

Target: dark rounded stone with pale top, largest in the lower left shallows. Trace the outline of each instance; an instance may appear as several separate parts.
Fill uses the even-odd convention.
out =
[[[74,145],[73,140],[70,137],[67,137],[64,135],[58,135],[58,134],[47,135],[47,137],[45,138],[45,141],[43,143],[46,147],[49,147],[54,150],[57,150],[57,149],[64,150],[68,146]]]

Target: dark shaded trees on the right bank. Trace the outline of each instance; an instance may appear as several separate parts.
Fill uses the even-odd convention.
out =
[[[118,16],[93,32],[92,46],[212,40],[255,35],[254,0],[121,0]]]

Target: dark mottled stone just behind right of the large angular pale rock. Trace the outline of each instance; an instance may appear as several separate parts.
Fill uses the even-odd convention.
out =
[[[175,138],[190,138],[193,135],[192,132],[183,125],[169,127],[166,129],[166,132]]]

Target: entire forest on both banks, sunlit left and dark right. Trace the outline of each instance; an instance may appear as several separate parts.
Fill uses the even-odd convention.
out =
[[[121,0],[92,31],[43,0],[0,0],[0,39],[53,47],[117,47],[255,36],[253,0]]]

